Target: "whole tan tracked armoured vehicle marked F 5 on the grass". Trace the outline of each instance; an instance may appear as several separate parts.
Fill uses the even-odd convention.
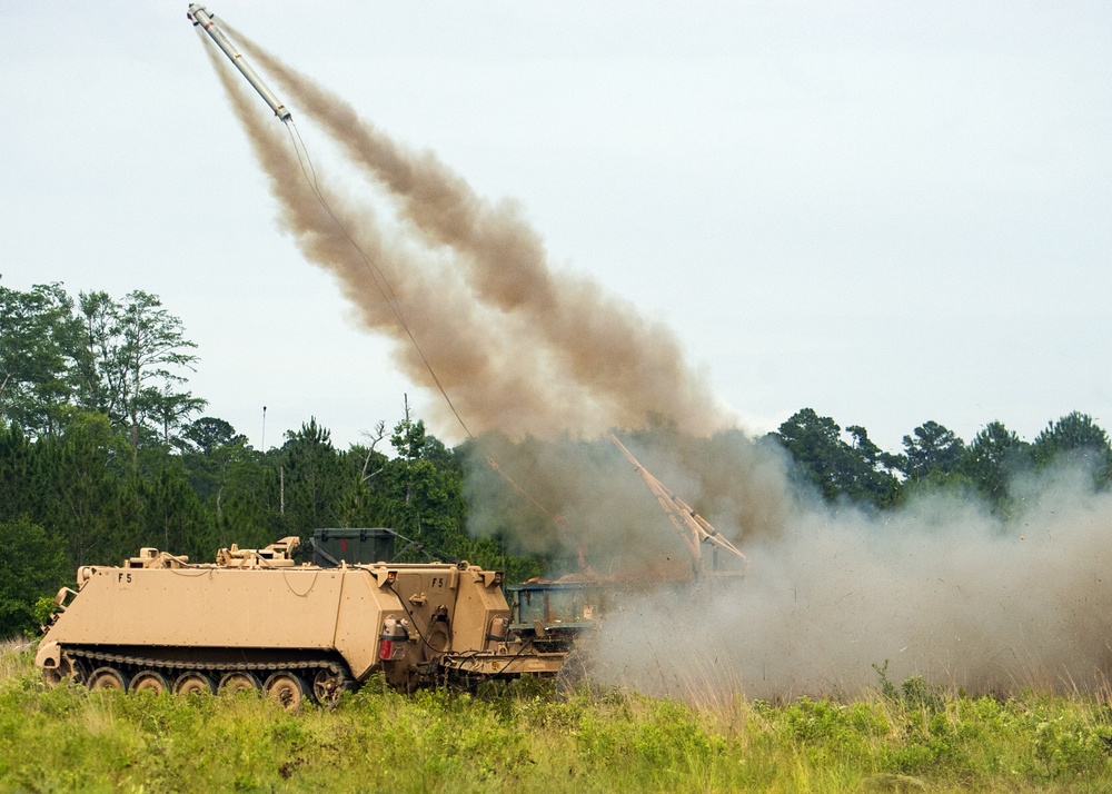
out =
[[[48,682],[91,688],[252,688],[290,707],[330,703],[381,671],[409,689],[555,675],[560,653],[509,632],[502,574],[431,563],[297,565],[296,537],[220,549],[195,565],[155,548],[78,569],[34,663]]]

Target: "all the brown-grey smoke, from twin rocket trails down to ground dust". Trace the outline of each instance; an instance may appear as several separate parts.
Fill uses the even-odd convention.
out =
[[[433,153],[237,38],[393,201],[396,217],[384,217],[329,187],[319,163],[318,200],[286,128],[206,41],[281,228],[335,274],[366,328],[395,340],[414,383],[435,394],[436,373],[475,433],[471,530],[553,557],[554,575],[585,564],[636,583],[595,637],[598,682],[792,697],[875,684],[875,665],[895,683],[973,691],[1106,685],[1112,497],[1092,493],[1085,472],[1013,483],[1007,520],[973,497],[870,514],[801,494],[775,444],[732,429],[675,336],[552,267],[515,205],[476,196]],[[618,435],[646,468],[747,554],[744,582],[692,584],[675,528],[598,437],[612,427],[634,428]]]

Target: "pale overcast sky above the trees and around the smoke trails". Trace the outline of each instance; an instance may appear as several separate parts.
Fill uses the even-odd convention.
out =
[[[406,393],[420,416],[439,397],[278,230],[187,6],[0,3],[0,284],[159,295],[256,446],[264,405],[268,447],[310,416],[358,441]],[[752,428],[1112,429],[1106,2],[208,8],[520,201]]]

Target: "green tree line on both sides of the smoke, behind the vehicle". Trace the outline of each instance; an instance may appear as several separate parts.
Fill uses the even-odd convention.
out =
[[[449,448],[407,409],[348,449],[311,417],[280,447],[255,449],[203,415],[206,401],[188,388],[195,350],[147,292],[75,299],[59,284],[0,286],[0,637],[32,631],[40,597],[72,582],[77,566],[118,564],[143,546],[199,562],[231,543],[390,527],[441,559],[505,569],[508,580],[546,568],[540,556],[506,552],[506,520],[532,509],[508,486],[504,502],[516,508],[500,528],[467,534],[464,464],[474,443]],[[893,454],[865,428],[843,430],[804,408],[753,443],[785,449],[801,487],[875,509],[925,488],[961,488],[1006,513],[1013,477],[1062,455],[1086,461],[1096,487],[1110,476],[1108,435],[1078,413],[1030,444],[999,421],[969,444],[925,421]]]

